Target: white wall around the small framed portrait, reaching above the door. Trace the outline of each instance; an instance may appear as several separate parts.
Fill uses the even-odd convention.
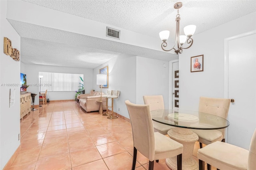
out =
[[[179,56],[180,109],[198,110],[200,96],[224,98],[224,39],[256,29],[256,13],[196,34]],[[204,55],[204,71],[190,73],[190,57]]]

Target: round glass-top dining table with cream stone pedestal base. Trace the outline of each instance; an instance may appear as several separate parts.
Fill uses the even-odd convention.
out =
[[[194,130],[218,130],[229,126],[228,120],[208,113],[181,109],[160,109],[151,111],[153,121],[172,126],[168,135],[183,144],[182,170],[198,170],[198,163],[192,158],[198,136]],[[172,170],[177,169],[176,156],[166,159]]]

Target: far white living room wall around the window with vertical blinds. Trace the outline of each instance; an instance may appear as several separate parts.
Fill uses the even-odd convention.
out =
[[[20,59],[22,61],[22,57]],[[89,93],[92,89],[92,69],[82,69],[73,67],[57,67],[48,65],[34,65],[22,63],[20,71],[27,76],[27,83],[39,83],[38,72],[53,72],[53,73],[74,73],[84,74],[84,89],[86,93]],[[44,78],[44,77],[43,77]],[[30,86],[27,89],[28,92],[39,94],[38,86]],[[46,98],[51,100],[70,100],[75,99],[75,91],[47,91]],[[35,105],[39,104],[39,95],[35,97]]]

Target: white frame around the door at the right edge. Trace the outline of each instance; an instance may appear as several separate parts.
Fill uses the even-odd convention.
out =
[[[250,36],[252,34],[256,34],[256,30],[252,30],[250,32],[245,32],[245,33],[238,34],[236,36],[232,36],[224,39],[224,98],[226,99],[228,99],[228,43],[230,40]],[[225,138],[227,139],[226,142],[228,142],[228,130],[226,130]]]

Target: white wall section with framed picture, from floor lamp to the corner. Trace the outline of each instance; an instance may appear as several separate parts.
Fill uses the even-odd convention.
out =
[[[129,118],[129,114],[124,101],[130,100],[136,103],[136,56],[120,55],[110,61],[93,69],[93,89],[100,91],[100,86],[96,85],[96,75],[99,69],[108,66],[108,88],[102,88],[102,92],[107,90],[120,90],[118,99],[114,99],[114,112]],[[109,99],[111,105],[111,99]],[[118,108],[120,111],[118,111]],[[111,110],[111,108],[109,108]]]

